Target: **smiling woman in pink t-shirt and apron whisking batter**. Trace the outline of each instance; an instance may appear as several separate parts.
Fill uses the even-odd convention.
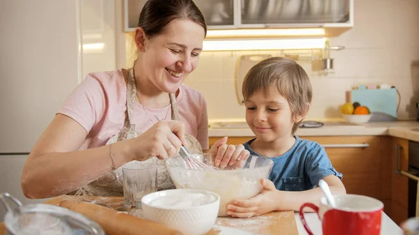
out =
[[[198,66],[206,31],[193,1],[147,1],[133,68],[91,73],[71,93],[29,154],[24,195],[122,196],[121,167],[133,160],[157,162],[159,189],[172,188],[161,161],[182,144],[192,153],[208,149],[205,100],[182,84]],[[249,156],[243,146],[226,146],[226,138],[210,152],[221,165]]]

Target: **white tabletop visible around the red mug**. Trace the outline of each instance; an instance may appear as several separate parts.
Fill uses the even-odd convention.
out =
[[[300,235],[308,235],[307,232],[304,229],[304,226],[302,226],[300,215],[298,215],[297,212],[294,213],[295,215],[295,221],[297,222],[297,229],[298,234]],[[307,224],[309,225],[311,232],[314,233],[314,235],[321,235],[323,232],[321,231],[321,222],[318,220],[318,216],[316,213],[307,212],[304,213],[304,218],[307,221]],[[402,235],[403,231],[402,229],[396,225],[395,222],[393,222],[384,212],[381,216],[381,235]]]

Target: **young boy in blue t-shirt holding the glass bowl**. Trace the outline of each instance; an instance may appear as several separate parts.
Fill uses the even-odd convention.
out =
[[[253,66],[242,92],[246,121],[255,139],[244,147],[252,155],[274,160],[269,180],[251,199],[234,200],[227,213],[247,218],[270,211],[298,211],[304,202],[318,204],[323,197],[318,181],[325,180],[332,194],[346,194],[342,174],[332,167],[325,149],[295,135],[309,111],[311,84],[307,73],[291,59],[272,57]]]

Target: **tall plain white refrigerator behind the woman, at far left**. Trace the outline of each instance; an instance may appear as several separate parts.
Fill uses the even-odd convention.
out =
[[[24,161],[81,79],[78,7],[0,1],[0,192],[24,204],[33,202],[20,188]],[[0,221],[4,212],[0,205]]]

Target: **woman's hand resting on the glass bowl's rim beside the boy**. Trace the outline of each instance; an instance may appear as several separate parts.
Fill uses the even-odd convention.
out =
[[[226,167],[234,167],[236,162],[246,162],[249,158],[250,153],[247,149],[244,149],[243,144],[237,146],[233,144],[227,144],[228,137],[223,137],[212,144],[208,154],[214,160],[214,166],[224,169]]]

